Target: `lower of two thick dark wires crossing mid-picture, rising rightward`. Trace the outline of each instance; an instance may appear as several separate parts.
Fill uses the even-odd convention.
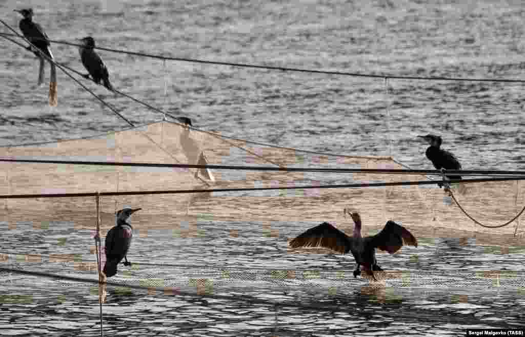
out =
[[[448,183],[475,183],[475,182],[495,182],[495,181],[514,181],[524,180],[525,177],[512,178],[479,178],[479,179],[451,179]],[[271,190],[301,190],[301,189],[323,189],[323,188],[363,188],[363,187],[387,187],[387,186],[414,186],[442,184],[443,180],[424,180],[424,181],[394,181],[394,182],[373,182],[373,183],[354,183],[354,184],[333,184],[317,186],[290,186],[290,187],[254,187],[254,188],[217,188],[201,190],[160,190],[160,191],[123,191],[123,192],[100,192],[101,196],[108,195],[156,195],[156,194],[187,194],[187,193],[213,193],[213,192],[247,192],[247,191],[271,191]],[[28,198],[78,198],[93,197],[96,192],[83,193],[47,193],[47,194],[2,194],[0,199],[28,199]]]

